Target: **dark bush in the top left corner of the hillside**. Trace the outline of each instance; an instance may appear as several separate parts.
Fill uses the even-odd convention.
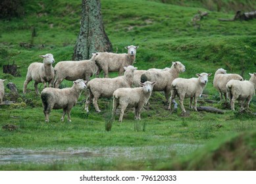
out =
[[[24,0],[1,0],[0,18],[20,17],[24,14]]]

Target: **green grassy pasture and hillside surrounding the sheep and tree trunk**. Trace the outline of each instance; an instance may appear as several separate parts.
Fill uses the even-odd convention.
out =
[[[214,74],[218,68],[225,68],[248,80],[248,73],[256,72],[256,20],[220,22],[218,18],[232,18],[234,12],[209,11],[196,1],[180,2],[183,4],[102,0],[103,22],[114,52],[125,53],[124,47],[140,45],[134,64],[139,69],[165,68],[179,60],[186,66],[186,72],[180,75],[184,78],[195,77],[201,72]],[[255,116],[251,114],[256,108],[255,97],[245,113],[228,110],[224,102],[209,104],[204,101],[219,100],[218,92],[213,88],[213,76],[204,91],[208,97],[200,99],[199,104],[221,108],[224,114],[189,110],[188,116],[181,116],[180,108],[170,114],[163,93],[155,92],[149,100],[150,107],[141,113],[140,122],[135,121],[134,112],[128,110],[124,122],[115,122],[112,130],[107,132],[105,122],[111,114],[111,99],[99,100],[101,113],[96,113],[93,106],[86,113],[86,91],[72,109],[72,123],[61,122],[62,110],[53,110],[49,124],[45,124],[34,83],[28,85],[28,93],[23,95],[23,82],[29,64],[41,61],[38,55],[52,53],[56,62],[72,58],[80,30],[80,1],[29,0],[25,10],[22,18],[0,20],[0,78],[8,79],[5,100],[13,99],[6,86],[8,82],[15,83],[19,92],[15,104],[0,106],[0,126],[14,124],[18,127],[15,131],[0,130],[0,154],[16,153],[17,150],[31,154],[47,150],[55,154],[89,152],[91,156],[41,161],[44,164],[10,163],[0,159],[1,170],[158,170],[161,167],[173,170],[175,164],[162,166],[161,163],[182,160],[197,149],[205,150],[207,154],[209,149],[205,145],[209,142],[216,143],[215,139],[219,140],[223,135],[246,134],[255,129]],[[209,14],[194,25],[192,18],[198,11],[208,11]],[[32,37],[33,28],[35,37]],[[33,47],[21,47],[24,43]],[[3,74],[3,65],[13,63],[18,65],[21,77]],[[114,76],[117,74],[111,74]],[[62,83],[62,87],[71,85],[71,81]],[[39,85],[39,90],[42,89]],[[188,103],[186,100],[186,109]],[[237,104],[236,109],[239,110]],[[140,129],[136,129],[137,126]],[[193,167],[196,166],[177,166],[178,170],[196,170]],[[214,167],[209,169],[215,170]],[[221,165],[216,169],[227,168]]]

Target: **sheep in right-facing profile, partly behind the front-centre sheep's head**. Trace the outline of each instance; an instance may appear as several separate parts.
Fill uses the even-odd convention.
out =
[[[185,72],[185,70],[186,68],[181,62],[172,62],[172,66],[166,71],[157,72],[155,70],[147,70],[145,74],[141,75],[141,82],[156,81],[153,91],[165,91],[165,98],[168,101],[172,81],[178,78],[180,72]]]

